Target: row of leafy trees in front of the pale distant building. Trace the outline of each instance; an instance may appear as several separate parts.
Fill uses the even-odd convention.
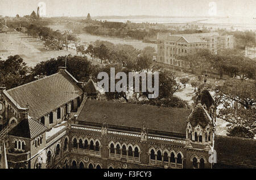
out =
[[[177,57],[185,62],[192,73],[200,70],[201,72],[217,72],[220,77],[227,74],[229,77],[244,79],[255,79],[256,61],[245,57],[240,51],[222,50],[213,55],[208,49],[200,49],[192,55]]]

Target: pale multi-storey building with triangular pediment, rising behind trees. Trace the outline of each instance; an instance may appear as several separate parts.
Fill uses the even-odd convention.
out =
[[[199,34],[158,34],[157,62],[171,65],[176,69],[186,68],[185,62],[177,56],[195,53],[197,49],[209,49],[217,53],[218,49],[232,49],[233,36],[220,36],[217,32]]]

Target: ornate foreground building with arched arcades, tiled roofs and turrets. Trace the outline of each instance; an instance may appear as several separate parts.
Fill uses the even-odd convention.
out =
[[[103,101],[96,89],[91,78],[79,82],[65,68],[2,88],[1,167],[256,167],[255,140],[216,135],[207,89],[193,110]]]

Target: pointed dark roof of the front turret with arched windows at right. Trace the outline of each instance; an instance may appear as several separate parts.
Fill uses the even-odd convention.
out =
[[[202,104],[198,103],[191,115],[189,115],[188,122],[192,127],[196,127],[196,125],[199,124],[201,127],[205,128],[208,124],[211,124],[211,118]]]

